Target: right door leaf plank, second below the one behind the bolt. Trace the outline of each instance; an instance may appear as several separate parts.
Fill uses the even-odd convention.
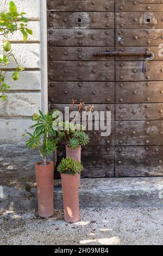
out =
[[[161,103],[163,102],[162,81],[116,82],[116,103]]]

